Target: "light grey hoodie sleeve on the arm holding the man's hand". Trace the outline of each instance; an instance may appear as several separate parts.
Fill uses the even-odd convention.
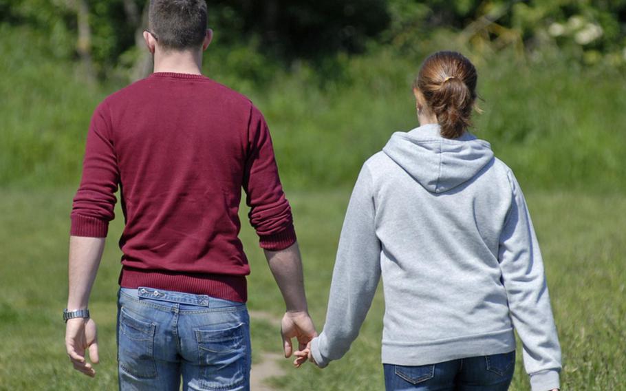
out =
[[[380,279],[371,174],[363,167],[354,185],[341,230],[323,332],[313,339],[319,366],[340,359],[358,336]]]

